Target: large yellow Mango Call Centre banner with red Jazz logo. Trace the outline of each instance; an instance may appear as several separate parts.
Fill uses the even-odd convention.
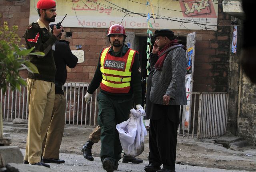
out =
[[[30,1],[30,23],[39,16],[38,0]],[[122,24],[125,28],[216,30],[218,3],[212,0],[56,0],[55,23],[68,14],[62,26],[108,28]]]

